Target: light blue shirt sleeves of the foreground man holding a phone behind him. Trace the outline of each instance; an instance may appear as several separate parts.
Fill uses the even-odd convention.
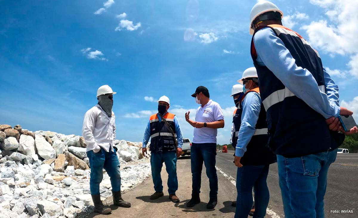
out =
[[[292,93],[324,118],[338,117],[338,86],[324,68],[326,93],[320,91],[315,78],[307,69],[296,65],[290,51],[271,28],[259,30],[253,43],[259,65],[269,68]]]

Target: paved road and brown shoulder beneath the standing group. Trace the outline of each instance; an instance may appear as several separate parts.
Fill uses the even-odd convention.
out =
[[[207,217],[233,217],[235,208],[231,207],[231,202],[236,199],[236,166],[232,163],[233,151],[228,153],[217,153],[216,167],[218,173],[218,204],[214,209],[207,209],[206,204],[209,200],[209,181],[205,175],[205,167],[202,171],[202,188],[200,199],[201,203],[193,208],[187,208],[185,204],[191,197],[192,175],[190,171],[190,156],[181,157],[177,162],[177,174],[179,189],[176,192],[180,199],[179,203],[169,200],[166,181],[168,174],[165,166],[162,169],[162,180],[164,186],[164,197],[150,200],[149,197],[154,193],[153,180],[151,177],[144,180],[142,184],[122,195],[131,202],[131,208],[118,208],[107,202],[112,209],[108,215],[92,213],[87,218],[108,217],[140,217],[140,218],[207,218]],[[277,164],[270,166],[267,183],[270,190],[270,203],[267,209],[266,218],[284,217],[281,193],[279,188],[279,178],[277,174]],[[358,217],[358,154],[338,154],[337,160],[333,163],[328,173],[328,185],[325,197],[325,216],[335,217]],[[331,210],[334,210],[333,213]],[[353,213],[344,213],[342,210],[352,210]]]

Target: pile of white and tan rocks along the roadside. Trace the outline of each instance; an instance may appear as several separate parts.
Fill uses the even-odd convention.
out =
[[[149,159],[140,142],[113,144],[125,192],[150,175]],[[83,137],[0,125],[0,218],[74,218],[93,207],[90,173]],[[111,182],[103,173],[100,192],[108,198]]]

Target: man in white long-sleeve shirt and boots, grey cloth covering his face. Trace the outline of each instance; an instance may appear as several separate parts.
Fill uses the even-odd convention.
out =
[[[89,109],[84,115],[82,136],[87,145],[87,156],[91,167],[91,190],[95,212],[107,214],[111,212],[106,208],[100,196],[100,183],[103,179],[103,169],[111,178],[113,204],[119,207],[130,207],[131,204],[121,197],[120,164],[113,149],[113,140],[116,138],[115,116],[112,112],[113,92],[108,85],[97,90],[98,104]]]

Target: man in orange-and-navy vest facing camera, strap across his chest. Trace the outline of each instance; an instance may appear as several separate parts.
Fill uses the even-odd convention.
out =
[[[154,200],[164,196],[160,175],[164,162],[168,173],[169,199],[177,203],[179,198],[175,194],[178,190],[176,159],[182,154],[183,134],[176,116],[168,112],[169,107],[169,98],[161,96],[158,101],[158,113],[150,116],[144,132],[142,154],[145,156],[147,153],[146,145],[150,138],[150,165],[155,190],[150,199]]]

